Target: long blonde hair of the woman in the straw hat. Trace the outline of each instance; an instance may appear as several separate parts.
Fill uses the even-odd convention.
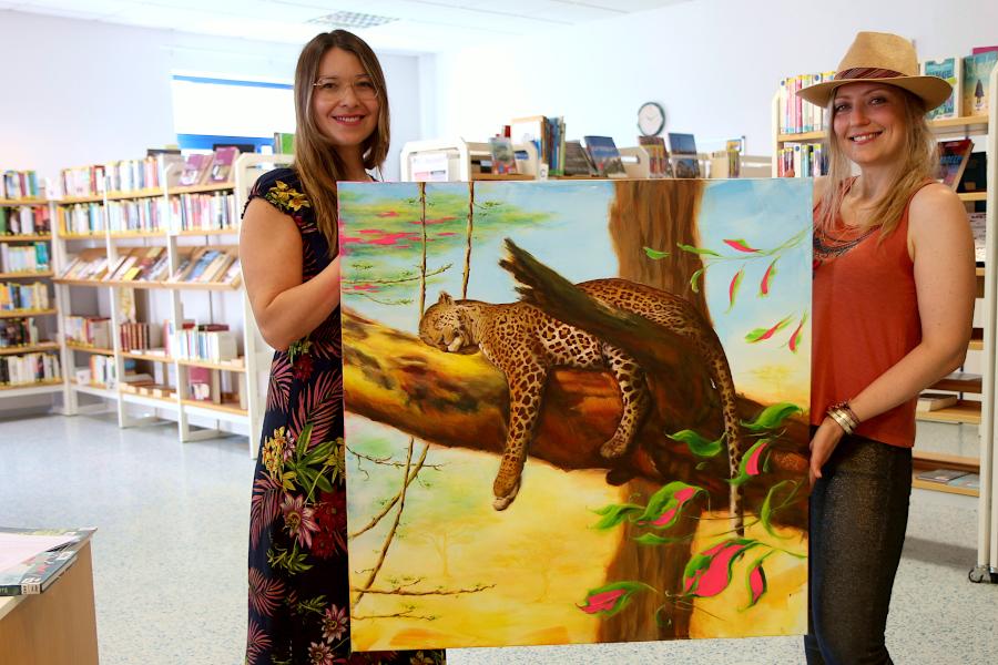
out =
[[[925,103],[913,93],[902,88],[894,88],[902,96],[905,113],[905,142],[902,157],[897,162],[894,183],[887,193],[877,201],[869,214],[860,219],[860,228],[867,231],[880,227],[880,241],[890,234],[900,222],[905,206],[927,178],[933,178],[938,171],[938,147],[925,120]],[[828,117],[835,114],[835,98],[828,102]],[[818,227],[829,231],[838,216],[842,201],[845,197],[845,181],[852,175],[853,163],[845,155],[835,137],[833,122],[828,123],[825,145],[828,150],[828,187],[818,204]]]

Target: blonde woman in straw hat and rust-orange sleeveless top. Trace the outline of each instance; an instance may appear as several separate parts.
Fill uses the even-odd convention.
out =
[[[949,93],[918,75],[910,42],[877,32],[856,37],[832,82],[801,91],[832,119],[829,175],[815,181],[811,665],[890,663],[915,403],[970,337],[974,243],[934,180],[925,121]]]

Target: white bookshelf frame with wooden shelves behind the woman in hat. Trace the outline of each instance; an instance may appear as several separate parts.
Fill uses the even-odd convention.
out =
[[[976,426],[979,439],[979,454],[953,456],[914,450],[914,468],[916,478],[914,487],[979,498],[980,510],[978,524],[978,567],[971,571],[981,579],[987,575],[981,571],[988,567],[998,570],[998,492],[995,480],[998,478],[998,458],[995,456],[995,399],[996,393],[996,326],[998,326],[998,234],[994,232],[998,223],[998,68],[991,71],[988,82],[991,100],[988,115],[960,116],[929,121],[929,127],[937,139],[974,137],[984,139],[987,153],[987,187],[985,192],[960,194],[960,200],[968,205],[975,202],[986,204],[985,267],[977,268],[978,300],[975,327],[968,346],[968,360],[979,366],[980,379],[955,380],[945,378],[931,386],[930,390],[943,390],[958,393],[956,405],[917,413],[920,422],[941,422],[951,426]],[[778,174],[778,155],[787,144],[819,142],[825,140],[825,132],[781,133],[781,94],[773,98],[773,164],[772,175]],[[917,478],[921,471],[948,469],[978,473],[980,489],[951,487],[946,483],[928,482]]]

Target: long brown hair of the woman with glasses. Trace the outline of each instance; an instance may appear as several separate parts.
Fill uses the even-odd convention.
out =
[[[316,34],[302,49],[295,69],[295,161],[293,167],[302,181],[305,195],[315,211],[319,231],[329,243],[330,256],[338,252],[336,181],[343,180],[345,166],[336,147],[319,131],[312,111],[312,95],[319,64],[329,49],[349,51],[378,90],[378,125],[360,146],[365,168],[378,168],[388,154],[389,115],[385,73],[377,55],[363,39],[346,30]]]

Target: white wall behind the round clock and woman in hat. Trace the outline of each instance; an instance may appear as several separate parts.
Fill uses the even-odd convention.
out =
[[[858,30],[914,38],[923,58],[967,54],[998,43],[998,2],[694,0],[440,54],[425,137],[483,140],[547,114],[564,115],[570,139],[634,145],[639,105],[659,101],[665,131],[696,134],[697,147],[745,134],[767,155],[780,79],[834,70]]]

